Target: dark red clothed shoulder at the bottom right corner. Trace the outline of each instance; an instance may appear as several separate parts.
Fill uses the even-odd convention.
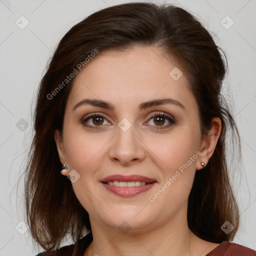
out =
[[[243,245],[223,241],[205,256],[256,256],[256,251]]]

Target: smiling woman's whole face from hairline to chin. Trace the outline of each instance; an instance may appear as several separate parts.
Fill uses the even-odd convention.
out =
[[[169,100],[150,103],[156,99]],[[97,106],[99,100],[106,103]],[[90,221],[146,229],[186,217],[195,169],[201,168],[200,135],[184,74],[158,49],[143,47],[99,52],[90,60],[75,77],[55,140]],[[110,175],[129,183],[103,183]],[[143,180],[154,182],[135,182]]]

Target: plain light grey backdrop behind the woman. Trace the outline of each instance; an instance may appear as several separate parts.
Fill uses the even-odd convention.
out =
[[[98,9],[124,2],[128,1],[0,0],[0,255],[39,252],[26,231],[22,178],[18,186],[17,182],[33,132],[31,104],[47,60],[72,25]],[[223,92],[232,100],[242,142],[241,167],[230,173],[241,217],[233,242],[256,249],[256,1],[165,2],[196,15],[216,34],[215,42],[227,55]],[[231,153],[229,161],[234,158]]]

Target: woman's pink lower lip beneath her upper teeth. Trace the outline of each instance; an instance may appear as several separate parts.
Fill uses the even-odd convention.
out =
[[[137,194],[140,194],[142,192],[145,192],[149,190],[156,182],[149,183],[147,185],[140,185],[140,186],[132,186],[132,187],[122,187],[122,186],[113,186],[108,185],[107,183],[103,183],[103,186],[110,192],[113,192],[117,195],[123,196],[123,197],[129,197],[134,196]]]

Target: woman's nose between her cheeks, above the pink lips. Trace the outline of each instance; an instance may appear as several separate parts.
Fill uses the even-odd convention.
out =
[[[133,125],[123,131],[118,126],[117,133],[111,140],[109,157],[112,161],[122,165],[131,165],[140,162],[145,157],[144,144],[138,135],[134,133]]]

